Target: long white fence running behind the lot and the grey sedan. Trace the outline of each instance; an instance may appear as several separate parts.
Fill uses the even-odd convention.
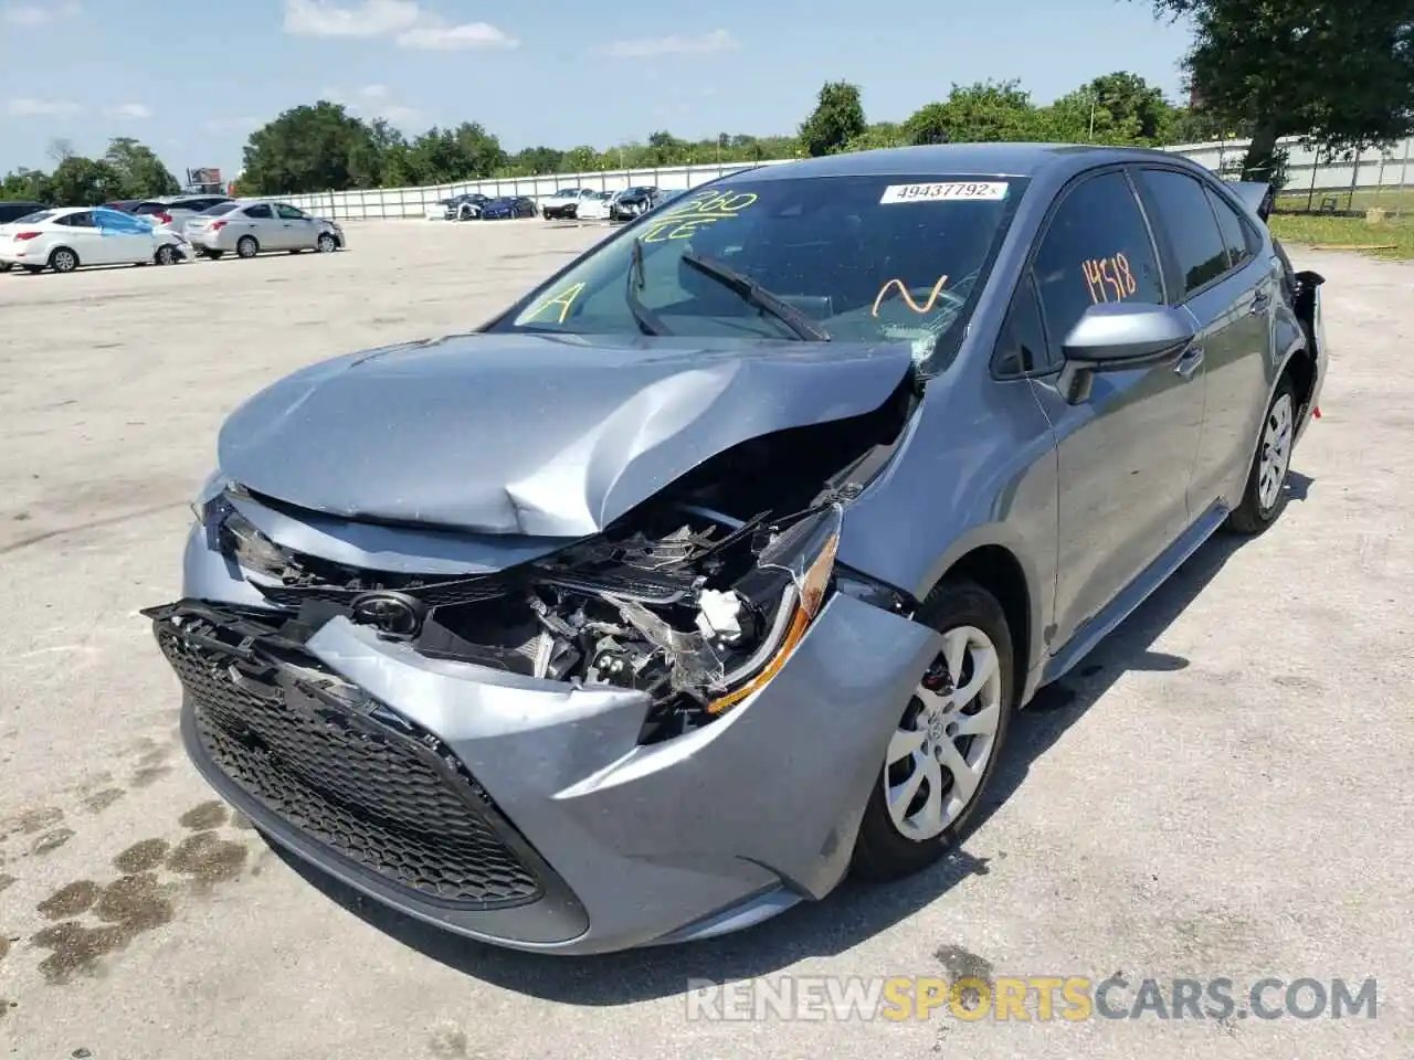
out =
[[[1410,148],[1414,139],[1396,144],[1389,151],[1366,151],[1359,161],[1318,160],[1314,151],[1295,140],[1284,141],[1290,150],[1287,163],[1287,192],[1307,191],[1377,191],[1397,189],[1408,184]],[[1246,140],[1206,144],[1179,144],[1167,148],[1186,155],[1209,170],[1230,174],[1240,167],[1247,150]],[[740,172],[755,165],[776,165],[788,158],[764,163],[715,163],[707,165],[666,165],[658,170],[614,170],[609,172],[567,172],[547,177],[516,177],[492,181],[461,181],[423,188],[370,188],[366,191],[327,191],[293,195],[290,202],[312,213],[335,220],[369,220],[382,218],[420,218],[440,199],[479,191],[485,195],[549,195],[559,188],[595,188],[615,191],[641,184],[659,188],[696,188],[699,184]]]

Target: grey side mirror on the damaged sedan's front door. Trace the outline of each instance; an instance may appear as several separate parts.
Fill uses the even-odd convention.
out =
[[[1124,372],[1182,353],[1198,335],[1192,315],[1172,305],[1102,302],[1092,305],[1066,336],[1058,380],[1070,404],[1090,394],[1102,372]]]

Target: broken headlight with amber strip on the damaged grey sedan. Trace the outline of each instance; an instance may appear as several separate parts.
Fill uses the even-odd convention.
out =
[[[824,606],[841,517],[843,509],[834,505],[792,523],[761,551],[756,571],[737,587],[735,592],[764,616],[765,632],[749,656],[724,667],[724,691],[707,702],[708,714],[724,714],[769,684],[800,644]]]

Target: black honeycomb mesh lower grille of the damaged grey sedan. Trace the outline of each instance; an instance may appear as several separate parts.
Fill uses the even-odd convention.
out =
[[[503,909],[542,896],[512,845],[529,848],[436,736],[312,657],[298,669],[263,657],[246,630],[156,625],[201,749],[270,813],[438,903]]]

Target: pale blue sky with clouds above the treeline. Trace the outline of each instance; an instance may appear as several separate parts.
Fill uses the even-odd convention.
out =
[[[1147,0],[523,3],[0,0],[0,172],[136,136],[178,177],[230,177],[252,129],[318,98],[509,150],[789,131],[841,78],[870,120],[987,78],[1046,102],[1130,69],[1176,98],[1189,40]]]

